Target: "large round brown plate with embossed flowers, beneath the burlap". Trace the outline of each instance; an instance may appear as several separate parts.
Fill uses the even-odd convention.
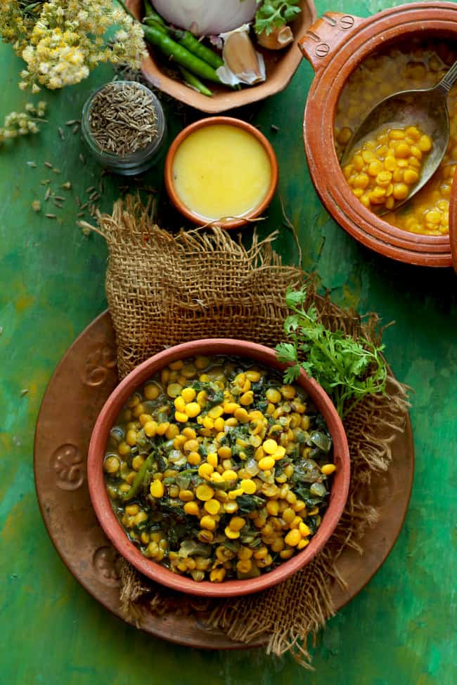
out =
[[[124,620],[119,603],[116,552],[91,507],[86,454],[98,412],[117,384],[115,335],[108,312],[82,332],[49,382],[39,412],[34,445],[34,474],[41,515],[67,568],[94,598]],[[347,589],[336,584],[335,608],[347,604],[376,573],[400,533],[413,483],[413,436],[406,431],[392,443],[392,466],[377,476],[366,500],[377,507],[378,526],[363,537],[363,556],[347,549],[338,569]],[[178,600],[179,604],[179,600]],[[198,613],[155,615],[144,609],[141,627],[178,644],[211,649],[246,647],[222,632],[205,629]],[[257,639],[249,646],[264,644]]]

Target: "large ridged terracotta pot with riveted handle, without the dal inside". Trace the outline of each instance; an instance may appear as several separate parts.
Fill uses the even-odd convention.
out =
[[[395,228],[356,200],[342,174],[333,142],[337,103],[349,75],[381,46],[412,37],[457,41],[457,4],[411,3],[366,19],[326,12],[309,29],[300,40],[300,49],[315,71],[304,112],[304,147],[316,191],[347,233],[398,261],[451,266],[448,236],[418,235]]]

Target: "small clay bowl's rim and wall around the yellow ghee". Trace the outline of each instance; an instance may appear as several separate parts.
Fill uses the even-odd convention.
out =
[[[266,154],[268,155],[270,162],[271,183],[269,190],[266,193],[262,202],[260,202],[257,205],[257,207],[255,207],[255,209],[252,209],[252,211],[247,212],[247,214],[243,214],[243,216],[240,216],[240,218],[232,218],[224,221],[212,222],[214,225],[217,224],[217,226],[221,226],[221,228],[239,228],[240,226],[245,226],[246,223],[252,221],[252,219],[262,214],[262,211],[264,211],[264,209],[266,209],[266,207],[268,207],[268,205],[270,204],[271,198],[273,197],[276,191],[276,186],[278,185],[278,160],[276,159],[275,152],[271,147],[271,143],[269,143],[269,141],[265,138],[264,134],[260,133],[260,131],[256,129],[255,126],[247,124],[247,122],[244,122],[243,119],[235,119],[233,117],[207,117],[207,119],[200,119],[198,122],[194,122],[193,124],[186,126],[186,128],[183,129],[181,133],[178,133],[176,138],[174,138],[172,145],[170,145],[169,150],[167,152],[167,157],[165,159],[165,188],[167,188],[169,198],[170,200],[172,200],[176,209],[178,209],[181,212],[181,214],[186,216],[186,218],[188,218],[189,221],[197,223],[199,226],[202,226],[202,224],[206,223],[205,220],[201,218],[201,216],[198,216],[198,214],[194,214],[193,211],[189,207],[187,207],[186,204],[184,204],[184,202],[182,202],[181,198],[176,193],[176,189],[174,188],[173,182],[173,162],[174,155],[176,155],[176,150],[178,150],[179,145],[181,145],[181,143],[190,135],[190,133],[193,133],[193,131],[198,131],[198,129],[205,128],[205,126],[214,125],[236,126],[239,129],[243,129],[243,131],[247,131],[247,133],[250,133],[252,136],[257,138],[257,141],[259,141],[259,143],[262,144]]]

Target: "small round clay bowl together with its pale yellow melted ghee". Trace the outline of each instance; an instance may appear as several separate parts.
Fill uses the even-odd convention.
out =
[[[165,161],[170,200],[200,226],[243,226],[262,214],[277,184],[271,144],[254,126],[233,117],[208,117],[187,126]]]

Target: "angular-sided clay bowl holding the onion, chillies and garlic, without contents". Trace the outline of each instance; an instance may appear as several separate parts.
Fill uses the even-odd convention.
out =
[[[143,1],[127,0],[127,7],[139,19],[143,19]],[[316,8],[313,0],[301,0],[301,13],[290,25],[294,34],[294,41],[283,50],[266,50],[256,46],[265,60],[266,80],[255,86],[242,86],[240,91],[231,91],[226,86],[210,84],[214,96],[209,98],[197,93],[186,86],[181,80],[170,77],[167,73],[167,58],[163,58],[157,50],[149,46],[149,57],[143,60],[141,71],[152,86],[168,93],[181,103],[191,105],[201,112],[217,114],[232,110],[234,107],[250,105],[258,100],[264,100],[274,93],[279,93],[288,85],[300,64],[300,51],[297,50],[298,39],[316,21]]]

